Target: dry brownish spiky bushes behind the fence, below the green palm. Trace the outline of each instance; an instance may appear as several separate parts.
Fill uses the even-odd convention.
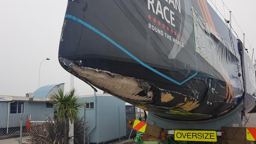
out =
[[[84,143],[84,137],[86,141],[88,140],[88,136],[84,135],[84,131],[89,130],[89,127],[85,127],[86,123],[83,118],[74,121],[74,137],[69,137],[68,131],[65,131],[68,128],[65,119],[55,119],[53,121],[48,117],[43,125],[33,126],[30,129],[26,144],[68,144],[70,139],[74,140],[74,144]]]

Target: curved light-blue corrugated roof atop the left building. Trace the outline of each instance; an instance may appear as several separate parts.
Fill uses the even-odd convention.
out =
[[[61,83],[64,84],[64,83]],[[50,84],[50,85],[44,85],[40,88],[38,88],[34,92],[34,98],[46,98],[47,94],[55,87],[61,84]]]

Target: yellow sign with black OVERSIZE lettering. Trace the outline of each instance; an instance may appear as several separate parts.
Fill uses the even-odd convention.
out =
[[[215,131],[174,131],[174,140],[183,141],[217,141]]]

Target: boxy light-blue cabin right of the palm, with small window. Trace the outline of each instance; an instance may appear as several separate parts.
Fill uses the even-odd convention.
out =
[[[86,102],[80,110],[84,116],[90,143],[100,143],[126,136],[125,102],[110,94],[92,94],[79,96],[80,102]]]

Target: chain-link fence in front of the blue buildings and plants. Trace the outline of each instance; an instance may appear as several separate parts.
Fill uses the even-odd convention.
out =
[[[110,107],[113,107],[112,111],[95,115],[95,109],[84,106],[73,123],[67,118],[57,118],[54,108],[51,113],[43,113],[45,107],[40,106],[25,110],[25,113],[23,105],[16,114],[6,110],[8,121],[0,119],[0,144],[119,143],[128,140],[130,134],[132,139],[136,131],[132,132],[126,126],[129,118],[136,118],[135,107]]]

